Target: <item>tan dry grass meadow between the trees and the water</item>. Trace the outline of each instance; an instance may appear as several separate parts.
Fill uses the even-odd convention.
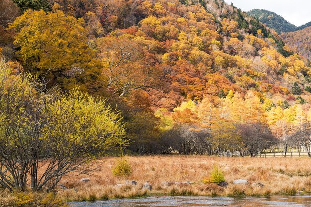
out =
[[[311,192],[310,158],[135,156],[128,157],[128,161],[132,173],[118,177],[111,172],[116,158],[97,160],[92,163],[98,167],[93,175],[64,177],[61,183],[68,189],[59,189],[58,196],[66,200],[96,200],[147,195],[269,196]],[[223,171],[228,187],[202,183],[214,166]],[[83,182],[82,178],[90,181]],[[248,184],[233,184],[236,179],[246,179]],[[127,180],[136,181],[137,185],[126,184]],[[152,185],[151,191],[142,189],[146,181]],[[191,183],[184,183],[187,181]],[[254,182],[265,186],[254,186]]]

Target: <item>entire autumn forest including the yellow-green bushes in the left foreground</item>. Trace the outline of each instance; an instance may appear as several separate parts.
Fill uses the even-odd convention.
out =
[[[0,0],[0,186],[103,155],[311,156],[308,31],[223,0]]]

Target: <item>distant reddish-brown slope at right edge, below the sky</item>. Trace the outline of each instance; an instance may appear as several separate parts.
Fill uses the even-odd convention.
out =
[[[296,32],[283,33],[281,37],[290,48],[311,60],[311,26]]]

